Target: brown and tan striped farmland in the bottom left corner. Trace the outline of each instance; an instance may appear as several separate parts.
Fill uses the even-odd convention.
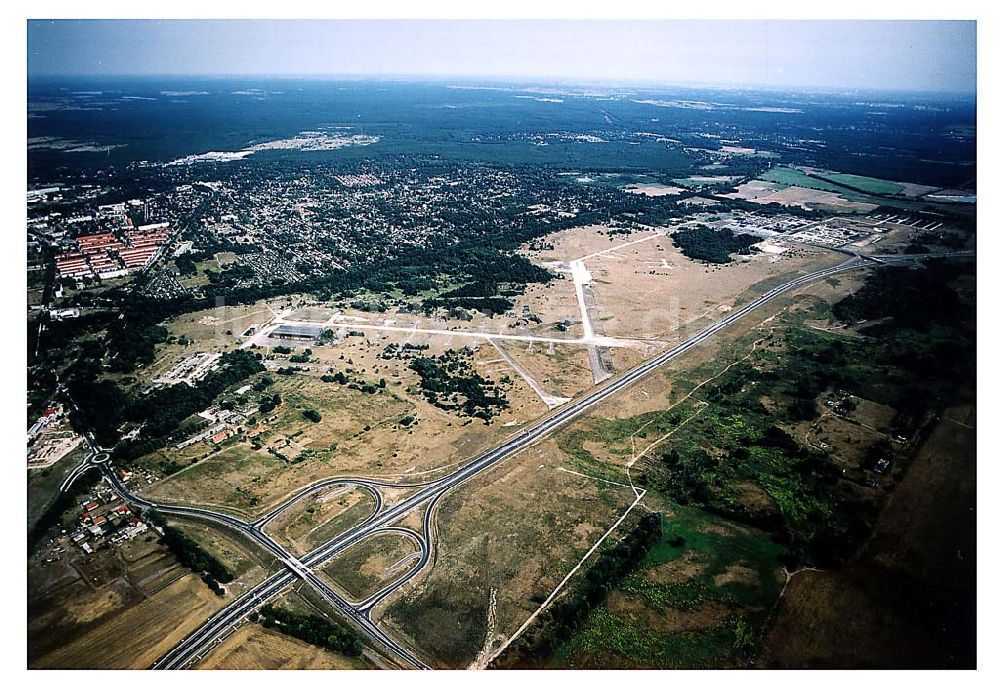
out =
[[[72,547],[51,563],[35,559],[28,607],[33,668],[146,668],[273,565],[256,548],[202,523],[169,523],[235,575],[225,595],[182,567],[154,532],[91,555]]]

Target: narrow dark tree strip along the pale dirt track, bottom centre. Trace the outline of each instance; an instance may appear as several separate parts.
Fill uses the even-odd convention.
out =
[[[540,616],[542,625],[529,628],[491,664],[493,668],[517,668],[529,660],[548,658],[599,606],[608,592],[642,562],[660,540],[662,517],[650,513],[597,559],[570,594],[550,606]]]

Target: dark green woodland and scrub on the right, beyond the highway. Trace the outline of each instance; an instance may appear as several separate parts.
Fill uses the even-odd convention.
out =
[[[863,330],[869,337],[787,329],[775,366],[740,364],[707,387],[711,414],[685,426],[637,481],[680,504],[773,533],[789,567],[842,564],[877,515],[878,497],[856,491],[870,481],[872,460],[844,468],[775,421],[814,419],[826,402],[849,409],[857,395],[894,408],[890,433],[912,437],[929,411],[950,404],[975,379],[973,304],[949,286],[961,285],[956,279],[968,268],[956,262],[874,271],[833,306],[845,318],[878,319]],[[831,401],[823,399],[826,391]],[[676,413],[665,423],[681,421]],[[893,461],[891,447],[869,450],[876,460]],[[747,500],[748,483],[770,500]]]

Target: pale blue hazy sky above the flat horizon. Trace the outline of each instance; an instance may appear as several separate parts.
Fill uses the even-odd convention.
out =
[[[29,20],[28,76],[480,77],[971,93],[969,21]]]

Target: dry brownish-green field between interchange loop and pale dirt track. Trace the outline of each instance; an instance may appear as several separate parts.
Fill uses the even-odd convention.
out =
[[[635,498],[568,460],[543,441],[446,496],[434,569],[376,615],[445,668],[506,640]]]

